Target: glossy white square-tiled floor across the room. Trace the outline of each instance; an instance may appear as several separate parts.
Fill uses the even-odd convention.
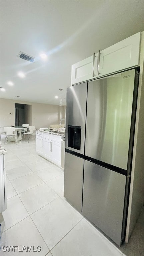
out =
[[[7,210],[0,215],[1,248],[41,246],[41,252],[3,252],[0,255],[140,256],[143,221],[121,249],[111,243],[63,197],[64,172],[38,156],[35,142],[5,145]]]

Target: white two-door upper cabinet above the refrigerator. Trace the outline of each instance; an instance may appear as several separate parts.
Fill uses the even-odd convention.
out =
[[[141,32],[72,65],[71,85],[139,65]]]

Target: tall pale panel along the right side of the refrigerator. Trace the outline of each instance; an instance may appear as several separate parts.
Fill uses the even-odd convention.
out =
[[[141,33],[140,77],[125,241],[128,243],[144,203],[144,32]]]

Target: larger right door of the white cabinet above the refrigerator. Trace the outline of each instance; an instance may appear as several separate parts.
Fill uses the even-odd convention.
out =
[[[139,65],[140,32],[100,51],[98,77]]]

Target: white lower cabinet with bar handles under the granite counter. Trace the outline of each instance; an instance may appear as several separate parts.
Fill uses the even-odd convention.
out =
[[[36,132],[36,152],[56,165],[61,166],[61,137]]]

